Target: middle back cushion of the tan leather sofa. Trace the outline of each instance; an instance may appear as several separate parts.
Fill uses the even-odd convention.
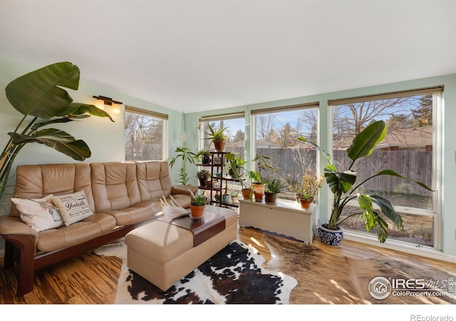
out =
[[[122,210],[141,202],[133,162],[91,163],[95,213]]]

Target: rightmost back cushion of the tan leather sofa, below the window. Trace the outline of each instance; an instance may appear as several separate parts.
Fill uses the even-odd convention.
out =
[[[172,181],[166,161],[136,161],[136,175],[143,202],[171,194]]]

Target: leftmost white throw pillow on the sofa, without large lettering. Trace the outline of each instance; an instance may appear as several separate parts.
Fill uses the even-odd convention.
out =
[[[56,206],[52,201],[53,195],[47,195],[44,198],[11,198],[21,214],[21,220],[28,226],[40,232],[58,228],[63,225],[63,220]]]

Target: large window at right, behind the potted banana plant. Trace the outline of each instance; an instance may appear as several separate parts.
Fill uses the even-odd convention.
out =
[[[359,181],[388,168],[438,190],[436,107],[441,91],[442,88],[427,88],[330,101],[333,113],[334,165],[348,168],[350,160],[346,157],[346,149],[353,137],[373,121],[383,120],[387,125],[387,135],[371,157],[358,162],[355,171]],[[437,193],[408,180],[388,175],[370,180],[365,188],[366,193],[388,198],[403,217],[403,230],[389,227],[388,238],[419,246],[437,247]],[[356,204],[353,204],[344,211],[343,216],[359,210]],[[346,230],[367,233],[361,215],[348,218],[342,225]]]

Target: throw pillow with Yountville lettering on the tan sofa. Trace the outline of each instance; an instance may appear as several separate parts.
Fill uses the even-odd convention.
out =
[[[66,226],[93,215],[86,193],[83,190],[73,194],[55,195],[52,200],[60,211],[63,223]]]

